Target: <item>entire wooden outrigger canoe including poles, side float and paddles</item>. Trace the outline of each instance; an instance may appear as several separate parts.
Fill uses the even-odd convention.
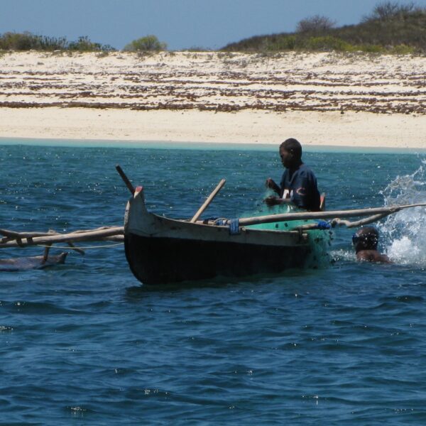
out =
[[[257,273],[282,273],[288,268],[305,266],[312,251],[313,230],[327,230],[335,226],[362,226],[377,222],[402,209],[426,206],[426,203],[420,203],[200,220],[201,214],[224,186],[225,180],[222,180],[192,219],[170,219],[148,212],[143,187],[135,189],[123,170],[119,166],[116,169],[131,192],[124,226],[102,226],[67,234],[0,229],[0,249],[27,246],[45,248],[44,256],[0,260],[0,271],[43,268],[63,263],[64,253],[49,256],[49,249],[53,244],[67,244],[70,250],[84,254],[75,243],[114,241],[124,242],[129,267],[133,275],[145,285],[202,280],[217,275],[241,277]],[[352,217],[363,219],[356,222],[346,220]],[[305,222],[300,224],[300,221]],[[297,225],[290,226],[288,230],[289,228],[282,226],[283,222]],[[268,229],[258,229],[255,225],[259,224],[271,226]]]

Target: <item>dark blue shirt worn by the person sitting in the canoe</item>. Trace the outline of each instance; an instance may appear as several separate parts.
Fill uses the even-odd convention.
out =
[[[317,187],[317,178],[305,164],[295,169],[285,169],[281,179],[280,197],[290,199],[297,207],[320,211],[320,192]]]

